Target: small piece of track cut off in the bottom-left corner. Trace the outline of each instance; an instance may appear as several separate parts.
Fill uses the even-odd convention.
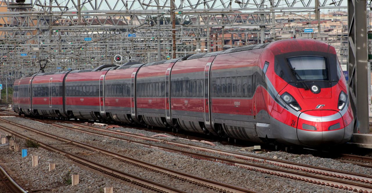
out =
[[[12,177],[0,166],[0,192],[6,193],[26,193]]]

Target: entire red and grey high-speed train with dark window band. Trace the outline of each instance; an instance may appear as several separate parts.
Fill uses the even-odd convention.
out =
[[[324,147],[354,127],[334,47],[287,39],[157,61],[36,73],[14,83],[14,110],[113,120],[252,142]]]

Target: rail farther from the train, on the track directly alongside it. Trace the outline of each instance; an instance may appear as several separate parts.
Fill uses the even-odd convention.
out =
[[[94,134],[96,136],[110,137],[112,139],[123,140],[123,141],[129,142],[129,143],[141,144],[142,146],[146,146],[146,147],[150,147],[150,148],[154,148],[154,149],[160,149],[160,150],[164,150],[164,151],[168,151],[168,152],[181,153],[181,154],[185,154],[185,155],[188,155],[188,156],[191,156],[191,157],[195,157],[196,159],[205,159],[205,160],[210,160],[210,161],[214,161],[214,162],[221,162],[221,163],[225,163],[225,164],[229,164],[229,165],[233,165],[233,166],[237,166],[237,167],[242,167],[242,168],[246,168],[248,170],[258,171],[258,172],[262,172],[262,173],[266,173],[266,174],[272,174],[272,175],[276,175],[276,176],[287,177],[287,178],[291,178],[291,179],[295,179],[295,180],[301,180],[301,181],[305,181],[305,182],[316,183],[316,184],[321,184],[321,185],[330,186],[330,187],[343,188],[343,189],[347,189],[347,190],[350,190],[350,191],[372,193],[372,186],[370,186],[369,184],[363,184],[363,183],[366,183],[367,181],[360,180],[361,177],[368,176],[368,175],[365,175],[365,174],[360,174],[360,175],[357,174],[357,176],[356,176],[358,178],[355,179],[355,180],[360,181],[361,183],[349,182],[349,181],[340,180],[340,179],[337,179],[337,178],[329,178],[329,177],[323,177],[323,176],[319,176],[319,175],[299,173],[299,172],[292,171],[292,170],[277,169],[277,168],[261,166],[261,165],[253,164],[253,163],[245,163],[245,162],[240,162],[240,161],[236,161],[236,160],[229,160],[229,159],[224,159],[224,158],[220,158],[220,157],[214,157],[214,156],[208,156],[208,155],[199,154],[199,153],[187,152],[187,151],[183,151],[183,150],[173,149],[173,148],[170,148],[170,147],[157,146],[157,145],[144,143],[144,142],[138,142],[138,141],[129,140],[129,139],[121,138],[121,137],[108,136],[108,135],[100,134],[100,133],[96,133],[96,132],[88,132],[88,131],[76,129],[76,128],[69,127],[69,126],[63,126],[63,125],[60,125],[60,124],[52,124],[52,125],[56,126],[56,127],[62,127],[62,128],[76,130],[76,131],[79,131],[79,132],[82,132],[82,133]],[[100,129],[100,128],[96,128],[96,129]],[[100,130],[102,130],[102,129],[100,129]],[[106,130],[106,132],[115,133],[115,131],[112,131],[112,130]],[[120,134],[120,133],[115,133],[115,134]],[[127,135],[129,133],[121,133],[121,134]],[[135,136],[134,134],[130,134],[130,135]],[[138,136],[135,136],[135,137],[137,137],[138,139],[148,138],[148,137],[144,137],[144,136],[141,136],[141,135],[138,135]],[[163,139],[160,140],[160,139],[151,139],[151,138],[147,139],[147,140],[152,140],[152,141],[155,141],[155,142],[164,142],[165,141]],[[186,145],[190,145],[190,144],[186,144]],[[194,146],[194,145],[190,145],[190,146]],[[208,149],[207,147],[204,147],[204,148]],[[266,159],[266,158],[264,158],[264,159]],[[276,161],[280,162],[280,160],[276,160]],[[290,162],[290,163],[292,163],[292,162]],[[295,163],[292,163],[292,164],[295,164]],[[279,164],[279,166],[280,166],[280,164]],[[308,166],[308,165],[305,165],[305,166]],[[308,167],[312,167],[312,166],[308,166]],[[306,169],[301,169],[299,167],[286,167],[286,168],[290,168],[290,169],[294,169],[294,170],[301,170],[301,171],[304,171],[304,172],[307,171]],[[320,167],[318,167],[318,168],[320,168]],[[320,168],[320,169],[328,170],[328,169],[325,169],[325,168]],[[307,172],[316,173],[316,174],[323,174],[323,173],[315,172],[314,170],[308,170]],[[325,173],[324,173],[324,175],[325,175]],[[333,177],[345,178],[344,176],[338,176],[338,175],[333,175],[333,174],[328,174],[328,175],[331,176],[331,177],[333,176]],[[347,177],[346,179],[350,179],[350,178]],[[368,181],[368,183],[369,183],[369,181]],[[372,181],[371,181],[371,183],[372,183]]]

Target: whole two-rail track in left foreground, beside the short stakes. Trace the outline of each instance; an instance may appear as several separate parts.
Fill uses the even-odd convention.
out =
[[[121,179],[124,178],[124,180],[129,181],[132,184],[133,183],[140,184],[140,186],[147,187],[147,189],[154,190],[154,192],[157,192],[159,190],[160,192],[161,191],[163,192],[189,192],[189,190],[192,190],[192,192],[254,192],[254,191],[246,190],[240,187],[232,186],[229,184],[213,182],[211,180],[203,179],[201,177],[192,176],[190,174],[186,174],[183,172],[178,172],[175,170],[167,169],[164,167],[157,166],[155,164],[146,163],[141,160],[136,160],[131,157],[127,157],[127,156],[124,156],[124,155],[121,155],[115,152],[110,152],[108,150],[104,150],[99,147],[94,147],[89,144],[77,142],[74,140],[66,139],[64,137],[55,136],[53,134],[49,134],[49,133],[41,132],[36,129],[21,126],[19,124],[9,122],[4,119],[0,119],[0,120],[6,123],[12,124],[14,126],[17,126],[19,128],[27,129],[33,133],[36,133],[42,136],[47,136],[49,138],[62,142],[62,143],[56,143],[56,142],[50,142],[50,141],[49,143],[39,142],[39,144],[41,144],[41,146],[44,147],[45,149],[62,153],[68,158],[75,160],[78,163],[84,164],[93,169],[97,169],[101,172],[110,173],[110,171],[112,171],[110,173],[111,175],[121,178]],[[16,136],[20,136],[22,138],[27,138],[27,137],[30,138],[29,136],[25,136],[16,131],[11,131],[3,126],[0,126],[0,129],[5,130],[6,132],[9,132],[9,133],[15,134]],[[39,140],[36,140],[35,137],[32,140],[39,141]],[[51,146],[50,144],[55,144],[55,145]],[[152,180],[148,180],[148,179],[145,179],[139,176],[134,176],[133,174],[129,174],[129,173],[124,173],[124,172],[121,172],[121,170],[110,168],[100,163],[92,162],[87,157],[77,156],[76,154],[70,153],[72,149],[71,146],[76,146],[78,148],[83,149],[83,152],[85,154],[90,155],[87,157],[92,157],[92,155],[96,153],[99,153],[99,156],[101,158],[102,156],[107,156],[108,162],[111,162],[111,164],[113,165],[120,165],[121,170],[131,170],[132,171],[131,173],[142,174],[142,175],[147,176],[147,178],[151,178]],[[67,151],[66,149],[69,149],[69,151]],[[89,152],[86,152],[87,150]],[[79,151],[82,152],[82,150],[74,149],[74,152],[79,152]],[[112,157],[115,158],[114,159],[115,163],[112,163],[113,162]],[[164,185],[164,184],[167,184],[169,186]]]

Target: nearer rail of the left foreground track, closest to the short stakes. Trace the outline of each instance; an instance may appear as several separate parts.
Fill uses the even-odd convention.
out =
[[[21,127],[21,128],[24,128],[25,127]],[[10,129],[7,129],[6,127],[3,127],[3,126],[0,126],[0,129],[8,132],[8,133],[11,133],[15,136],[18,136],[22,139],[30,139],[30,140],[33,140],[35,142],[38,142],[40,144],[41,147],[43,147],[44,149],[47,149],[49,151],[52,151],[52,152],[58,152],[72,160],[75,160],[77,161],[78,163],[82,163],[82,164],[87,164],[89,167],[93,168],[93,169],[96,169],[96,170],[99,170],[99,171],[104,171],[106,173],[109,173],[109,174],[112,174],[116,177],[119,177],[121,179],[124,179],[125,181],[127,182],[130,182],[130,183],[133,183],[137,186],[142,186],[142,187],[145,187],[149,190],[152,190],[154,192],[171,192],[171,193],[186,193],[185,191],[183,190],[178,190],[178,189],[175,189],[173,187],[169,187],[169,186],[166,186],[164,184],[160,184],[160,183],[157,183],[157,182],[153,182],[151,180],[147,180],[147,179],[144,179],[144,178],[141,178],[141,177],[138,177],[138,176],[134,176],[132,174],[128,174],[128,173],[125,173],[125,172],[122,172],[120,170],[117,170],[117,169],[114,169],[112,167],[108,167],[108,166],[105,166],[105,165],[102,165],[102,164],[99,164],[99,163],[96,163],[96,162],[93,162],[93,161],[90,161],[90,160],[87,160],[83,157],[80,157],[80,156],[77,156],[73,153],[70,153],[70,152],[66,152],[64,150],[61,150],[61,149],[58,149],[56,147],[53,147],[49,144],[46,144],[46,143],[43,143],[43,142],[39,142],[38,140],[36,139],[33,139],[31,137],[28,137],[28,136],[25,136],[23,134],[20,134],[18,132],[15,132],[15,131],[12,131]]]

